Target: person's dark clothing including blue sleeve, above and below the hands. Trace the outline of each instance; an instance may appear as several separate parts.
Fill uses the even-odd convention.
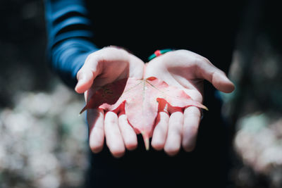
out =
[[[46,18],[51,67],[71,87],[88,54],[104,46],[128,49],[147,61],[157,49],[188,49],[227,71],[231,63],[238,1],[192,1],[159,6],[134,2],[47,0]],[[173,62],[171,62],[173,63]],[[205,113],[195,151],[169,157],[139,138],[135,151],[114,158],[109,150],[92,154],[90,187],[226,187],[228,137],[221,104],[210,84],[205,86]]]

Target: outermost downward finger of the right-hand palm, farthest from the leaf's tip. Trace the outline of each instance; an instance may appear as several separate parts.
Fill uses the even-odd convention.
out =
[[[190,106],[184,111],[182,146],[185,151],[195,148],[197,132],[200,124],[201,112],[195,106]]]

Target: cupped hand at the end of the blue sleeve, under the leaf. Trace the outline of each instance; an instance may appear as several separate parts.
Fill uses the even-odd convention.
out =
[[[78,71],[75,91],[85,93],[87,102],[99,87],[125,77],[142,78],[143,70],[144,63],[140,58],[117,47],[106,47],[87,57]],[[90,126],[90,148],[94,153],[102,151],[104,137],[115,157],[123,156],[125,148],[136,148],[137,136],[125,113],[109,111],[104,114],[100,109],[88,109],[87,122]]]

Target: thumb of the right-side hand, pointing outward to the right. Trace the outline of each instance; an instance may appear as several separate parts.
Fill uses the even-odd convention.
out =
[[[211,82],[216,89],[225,93],[233,92],[235,86],[231,80],[226,77],[226,74],[222,70],[216,68],[209,62],[207,58],[201,58],[201,62],[197,63],[197,65],[199,68],[197,69],[198,74],[205,80]]]

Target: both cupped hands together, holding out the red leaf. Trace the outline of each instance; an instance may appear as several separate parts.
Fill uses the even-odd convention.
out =
[[[85,93],[85,101],[99,87],[125,77],[157,77],[166,83],[183,89],[195,101],[203,101],[203,81],[208,80],[221,92],[232,92],[233,83],[226,75],[210,63],[207,58],[187,50],[171,51],[154,58],[145,65],[139,58],[123,49],[106,47],[96,51],[85,61],[78,72],[76,92]],[[191,151],[195,146],[201,112],[190,106],[164,108],[158,112],[152,135],[154,149],[164,149],[168,155],[175,155],[183,146]],[[115,157],[123,156],[126,149],[137,147],[137,136],[128,123],[124,111],[114,113],[101,109],[88,109],[87,122],[90,126],[90,148],[94,153],[106,145]]]

